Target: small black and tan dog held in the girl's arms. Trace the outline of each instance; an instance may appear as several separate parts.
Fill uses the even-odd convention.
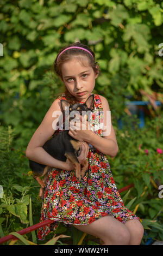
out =
[[[89,98],[87,98],[84,104],[76,103],[76,104],[70,105],[70,103],[68,103],[67,100],[61,100],[60,102],[61,102],[61,109],[63,114],[65,114],[65,107],[69,107],[69,113],[68,113],[69,121],[71,121],[73,118],[76,118],[77,120],[77,115],[70,117],[70,113],[72,111],[78,111],[76,113],[80,118],[80,115],[82,115],[83,111],[92,111],[94,109],[94,103],[95,103],[93,94]],[[64,116],[66,120],[66,115]],[[83,115],[83,116],[88,121],[87,115],[86,116]],[[77,158],[80,156],[80,153],[81,153],[80,142],[72,138],[68,134],[68,132],[69,130],[64,130],[58,133],[57,135],[55,135],[54,133],[54,136],[52,136],[51,139],[45,142],[45,144],[42,147],[47,153],[49,153],[55,159],[66,162],[66,159],[68,158],[71,161],[71,163],[74,165],[76,177],[80,181],[81,177],[84,177],[85,171],[87,170],[88,162],[87,160],[84,160],[84,162],[81,163],[83,166],[81,170],[81,166]],[[41,186],[40,197],[42,198],[43,188],[46,187],[45,181],[51,166],[46,166],[40,163],[36,163],[33,160],[29,160],[29,166],[30,166],[30,169],[33,171],[34,178],[37,180],[37,182],[39,182]],[[43,180],[41,180],[42,176],[44,176]]]

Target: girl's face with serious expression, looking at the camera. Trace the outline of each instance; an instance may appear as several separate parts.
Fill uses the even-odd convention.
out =
[[[87,58],[83,57],[83,60],[86,67],[77,58],[65,62],[61,67],[62,81],[67,90],[79,102],[85,102],[90,96],[95,87],[95,79],[98,76],[89,66]]]

